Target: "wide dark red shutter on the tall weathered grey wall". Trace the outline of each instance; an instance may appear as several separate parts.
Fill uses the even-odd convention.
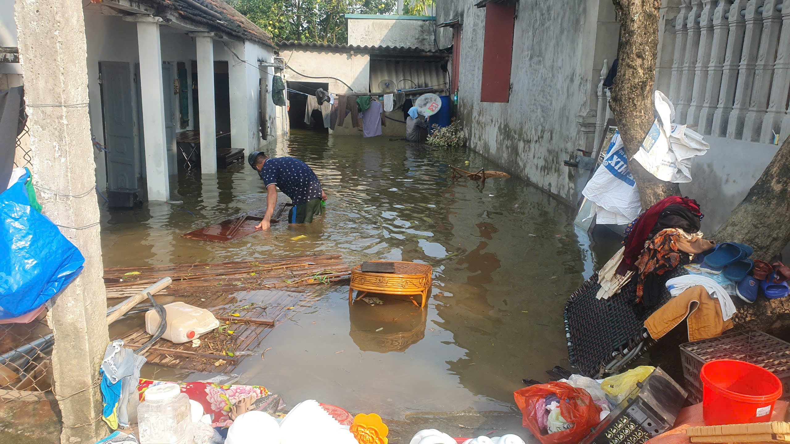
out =
[[[514,2],[486,5],[481,102],[507,103],[510,100],[510,67],[513,63],[515,20]]]

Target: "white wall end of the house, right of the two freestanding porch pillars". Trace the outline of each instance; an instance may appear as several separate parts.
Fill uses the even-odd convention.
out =
[[[246,60],[244,42],[228,42],[228,47],[242,60]],[[228,51],[229,52],[229,51]],[[231,146],[244,149],[245,154],[253,152],[250,146],[250,92],[247,91],[247,65],[236,58],[228,56],[228,85],[231,96]],[[198,78],[200,78],[198,76]]]

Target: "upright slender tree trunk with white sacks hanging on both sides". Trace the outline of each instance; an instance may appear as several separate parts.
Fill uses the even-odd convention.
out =
[[[653,125],[653,81],[658,52],[661,0],[612,0],[620,21],[618,70],[611,92],[611,111],[637,183],[642,209],[663,198],[679,196],[677,183],[664,182],[630,161]]]

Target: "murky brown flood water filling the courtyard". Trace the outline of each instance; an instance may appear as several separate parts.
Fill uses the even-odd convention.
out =
[[[421,312],[386,296],[383,305],[349,310],[347,285],[320,288],[265,338],[265,360],[241,363],[239,383],[266,386],[290,405],[317,399],[403,420],[469,408],[516,413],[521,378],[545,380],[547,369],[568,367],[562,308],[591,273],[592,255],[566,205],[517,178],[451,181],[448,166],[465,160],[465,169],[506,170],[468,149],[294,132],[276,150],[322,180],[327,213],[314,224],[274,224],[230,243],[183,239],[261,208],[266,197],[246,164],[212,178],[182,174],[171,181],[171,199],[182,203],[103,208],[104,266],[339,253],[352,265],[431,264],[434,289]],[[144,377],[205,376],[144,369]]]

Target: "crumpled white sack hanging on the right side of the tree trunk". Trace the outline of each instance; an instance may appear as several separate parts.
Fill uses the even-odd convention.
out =
[[[663,92],[653,93],[653,107],[658,117],[634,160],[664,182],[691,182],[691,159],[704,155],[710,145],[696,131],[672,123],[675,107]]]

